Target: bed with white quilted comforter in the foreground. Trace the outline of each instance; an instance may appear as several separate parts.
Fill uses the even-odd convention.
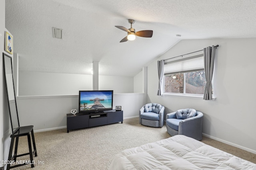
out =
[[[256,170],[256,164],[176,135],[116,154],[109,170]]]

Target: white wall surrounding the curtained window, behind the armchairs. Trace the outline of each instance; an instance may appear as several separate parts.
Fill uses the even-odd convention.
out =
[[[148,66],[148,102],[166,107],[165,113],[194,108],[204,113],[203,133],[208,137],[256,153],[256,39],[182,40],[160,59],[168,59],[211,45],[216,50],[214,94],[216,100],[156,96],[157,60]]]

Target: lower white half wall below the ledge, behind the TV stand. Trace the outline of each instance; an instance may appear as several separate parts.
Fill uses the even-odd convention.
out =
[[[145,94],[114,94],[113,108],[122,106],[124,118],[138,116],[146,102]],[[35,131],[66,127],[66,114],[78,110],[78,96],[20,96],[17,97],[20,125],[34,125]],[[125,121],[125,120],[124,120]]]

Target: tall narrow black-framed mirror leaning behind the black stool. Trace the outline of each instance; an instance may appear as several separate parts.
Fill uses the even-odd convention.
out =
[[[12,74],[12,57],[3,53],[3,61],[4,61],[4,74],[5,74],[10,120],[11,120],[11,126],[12,126],[12,134],[14,134],[19,129],[20,123],[18,118],[18,110],[17,110],[17,104],[16,104],[15,90],[14,90],[13,74]]]

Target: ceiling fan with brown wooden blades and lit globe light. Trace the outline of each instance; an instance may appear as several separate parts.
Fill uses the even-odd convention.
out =
[[[131,24],[131,27],[129,29],[127,29],[126,27],[123,27],[123,26],[115,26],[115,27],[122,29],[123,31],[126,31],[128,33],[128,35],[126,37],[124,37],[120,41],[120,43],[126,42],[128,40],[133,41],[136,38],[136,36],[147,37],[147,38],[152,37],[152,35],[153,35],[152,30],[142,30],[142,31],[135,32],[135,29],[132,28],[132,24],[135,22],[135,20],[129,19],[128,22]]]

